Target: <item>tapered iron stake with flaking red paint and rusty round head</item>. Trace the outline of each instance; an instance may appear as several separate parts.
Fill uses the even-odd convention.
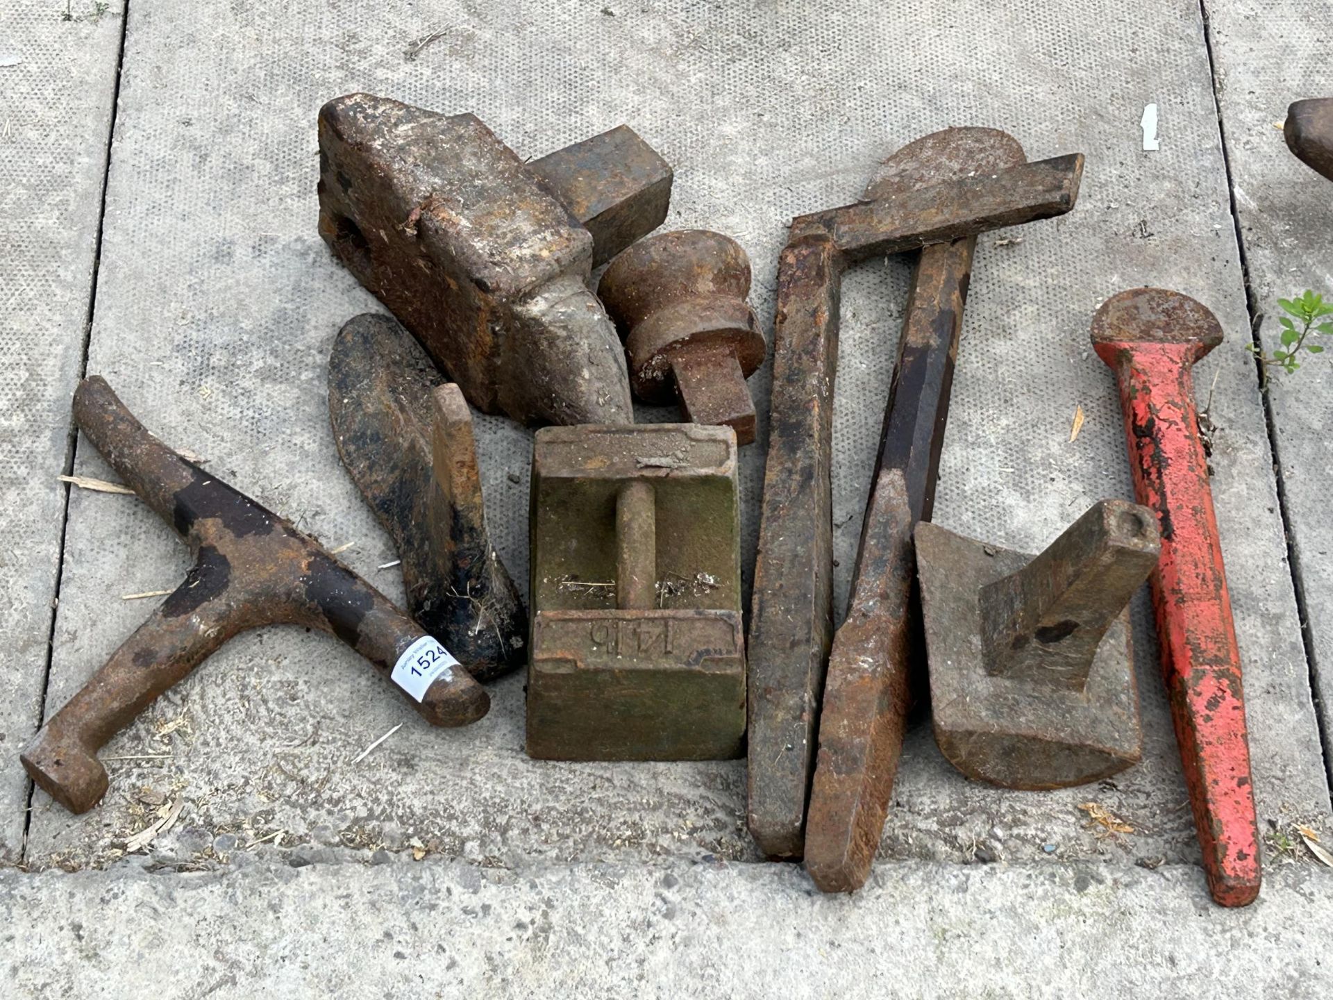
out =
[[[1134,493],[1161,528],[1153,608],[1204,871],[1214,900],[1244,907],[1258,896],[1258,827],[1241,656],[1190,373],[1222,343],[1222,328],[1189,296],[1136,288],[1102,304],[1092,343],[1120,385]]]

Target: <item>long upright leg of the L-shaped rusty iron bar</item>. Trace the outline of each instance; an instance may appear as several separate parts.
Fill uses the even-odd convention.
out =
[[[833,636],[833,372],[844,261],[825,236],[777,264],[773,392],[748,656],[746,821],[798,859],[824,665]]]

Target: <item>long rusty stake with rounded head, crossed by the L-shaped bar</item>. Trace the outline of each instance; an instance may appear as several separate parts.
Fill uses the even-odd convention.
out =
[[[866,199],[1024,163],[1013,136],[949,128],[881,164]],[[909,675],[924,660],[913,593],[912,525],[929,520],[949,415],[976,239],[926,247],[917,260],[880,436],[846,620],[833,636],[818,756],[805,827],[805,867],[825,892],[870,873],[902,748]],[[921,664],[924,665],[924,664]],[[916,671],[920,680],[921,671]]]

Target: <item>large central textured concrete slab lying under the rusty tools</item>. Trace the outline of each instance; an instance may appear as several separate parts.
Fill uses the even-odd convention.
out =
[[[436,31],[429,45],[409,48]],[[125,64],[89,371],[105,375],[168,443],[205,456],[211,471],[331,545],[355,543],[348,561],[391,595],[400,592],[396,575],[376,567],[393,553],[339,468],[327,421],[332,336],[373,301],[315,232],[313,123],[325,99],[365,89],[475,111],[524,156],[631,123],[676,167],[668,224],[717,228],[745,245],[765,324],[786,220],[854,200],[877,159],[914,136],[948,124],[1002,125],[1033,159],[1088,153],[1076,212],[982,244],[937,520],[1036,549],[1094,500],[1129,496],[1110,373],[1088,343],[1093,311],[1144,283],[1214,308],[1229,341],[1200,379],[1206,385],[1218,373],[1214,491],[1246,661],[1260,813],[1284,827],[1328,824],[1194,3],[1108,11],[1093,0],[1025,0],[981,21],[962,0],[864,0],[817,15],[758,3],[643,11],[615,1],[432,1],[403,12],[371,3],[279,11],[139,0]],[[1138,120],[1150,100],[1162,104],[1173,139],[1145,155]],[[844,287],[840,603],[905,288],[901,261],[866,265]],[[766,381],[765,368],[753,380],[761,412]],[[1088,421],[1070,443],[1077,405]],[[523,579],[529,436],[488,419],[479,440],[499,549]],[[746,565],[764,443],[761,428],[742,460]],[[87,447],[79,468],[105,473]],[[73,499],[51,709],[147,613],[119,596],[173,587],[184,568],[184,549],[133,499]],[[918,725],[882,856],[1197,860],[1144,621],[1140,609],[1141,765],[1096,788],[1000,792],[954,773]],[[217,863],[220,836],[511,867],[533,857],[756,857],[738,761],[529,761],[521,700],[521,679],[511,677],[477,725],[428,732],[331,640],[291,629],[247,636],[112,741],[112,792],[100,809],[72,819],[39,796],[28,860],[109,861],[163,796],[185,803],[153,844],[173,864]],[[1078,808],[1089,800],[1136,832],[1100,836]]]

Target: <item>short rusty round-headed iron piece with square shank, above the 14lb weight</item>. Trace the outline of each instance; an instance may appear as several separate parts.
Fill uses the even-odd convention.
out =
[[[745,380],[768,345],[749,295],[749,257],[736,240],[706,229],[640,240],[597,287],[629,353],[629,384],[645,403],[680,397],[685,419],[726,424],[737,444],[754,440]]]

